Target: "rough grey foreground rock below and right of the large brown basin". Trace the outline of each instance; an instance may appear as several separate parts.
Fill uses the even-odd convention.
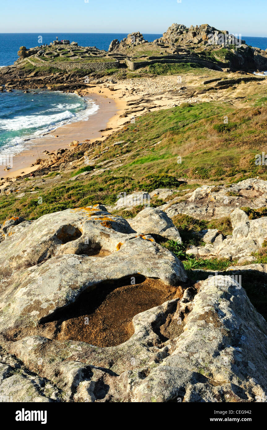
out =
[[[67,401],[266,399],[267,323],[230,276],[201,281],[133,324],[132,337],[110,348],[38,335],[2,342]]]

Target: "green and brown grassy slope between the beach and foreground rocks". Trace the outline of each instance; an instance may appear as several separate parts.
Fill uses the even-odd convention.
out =
[[[267,153],[267,108],[265,100],[264,106],[260,100],[257,104],[239,109],[218,102],[186,104],[138,117],[135,124],[129,123],[110,136],[103,144],[110,149],[95,160],[94,167],[98,168],[104,160],[122,158],[119,168],[70,181],[83,165],[61,174],[58,186],[34,189],[39,191],[36,195],[26,193],[20,200],[12,194],[1,197],[0,221],[14,215],[33,219],[70,207],[111,204],[123,191],[175,188],[178,183],[174,178],[190,179],[190,187],[256,176],[267,179],[267,167],[255,165],[255,155]],[[224,124],[225,116],[228,124]],[[113,147],[117,141],[123,143]],[[104,146],[96,147],[95,154]],[[82,155],[80,151],[79,158]],[[28,184],[30,191],[31,180]],[[181,189],[188,187],[186,184]],[[42,205],[37,202],[39,196]]]

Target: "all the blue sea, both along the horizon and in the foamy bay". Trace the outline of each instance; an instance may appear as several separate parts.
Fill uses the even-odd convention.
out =
[[[20,46],[38,46],[56,39],[68,39],[80,46],[96,46],[108,49],[111,40],[121,40],[126,33],[0,33],[0,66],[13,64],[18,59]],[[143,34],[152,42],[162,34]],[[242,36],[246,43],[267,49],[267,37]],[[39,39],[40,40],[40,39]],[[1,83],[1,82],[0,82]],[[46,132],[66,123],[85,120],[98,110],[93,101],[86,101],[75,94],[32,90],[28,93],[13,91],[0,92],[0,154],[18,154],[27,149],[30,137],[40,137]]]

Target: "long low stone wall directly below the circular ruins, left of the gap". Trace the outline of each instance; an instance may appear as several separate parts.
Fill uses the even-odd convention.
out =
[[[30,58],[27,58],[27,60],[34,66],[38,67],[38,63],[32,61]],[[110,62],[100,62],[95,61],[92,63],[84,63],[83,61],[66,61],[66,62],[58,62],[55,63],[53,61],[45,61],[41,58],[38,58],[38,60],[42,63],[42,67],[55,67],[60,70],[64,71],[71,71],[73,69],[91,69],[93,71],[102,71],[105,69],[113,69],[113,68],[119,68],[120,67],[120,61],[110,61]]]

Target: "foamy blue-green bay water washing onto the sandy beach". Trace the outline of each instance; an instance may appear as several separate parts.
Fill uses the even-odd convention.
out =
[[[86,120],[98,105],[74,93],[31,90],[0,92],[1,153],[18,154],[27,141],[74,121]]]

